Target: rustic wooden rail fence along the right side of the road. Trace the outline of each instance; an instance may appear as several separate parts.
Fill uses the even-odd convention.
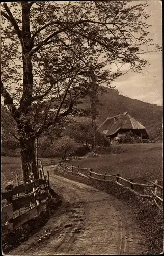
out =
[[[68,173],[71,175],[78,175],[80,177],[85,177],[87,179],[98,180],[102,182],[115,182],[118,186],[121,186],[127,190],[130,190],[131,193],[135,194],[136,196],[147,198],[149,200],[153,200],[156,206],[160,209],[163,208],[163,187],[157,184],[157,180],[155,182],[149,180],[143,180],[146,184],[142,183],[134,183],[133,180],[126,180],[121,177],[119,174],[98,174],[93,172],[92,169],[89,168],[80,168],[76,166],[69,166],[66,163],[59,163],[59,172]],[[137,188],[143,188],[142,190],[144,193],[141,194]],[[134,190],[135,189],[135,190]],[[154,191],[153,191],[154,189]],[[159,195],[158,195],[159,194]]]

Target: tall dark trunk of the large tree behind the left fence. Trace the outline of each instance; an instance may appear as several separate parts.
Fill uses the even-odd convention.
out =
[[[31,51],[30,32],[30,5],[22,2],[22,31],[21,47],[23,61],[23,94],[20,101],[21,121],[18,127],[20,136],[21,160],[24,183],[29,181],[29,174],[33,173],[38,179],[35,159],[35,136],[32,128],[31,98],[33,93],[33,66]]]

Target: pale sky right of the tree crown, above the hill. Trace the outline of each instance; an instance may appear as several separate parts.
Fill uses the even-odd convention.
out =
[[[136,2],[139,3],[139,1]],[[147,23],[151,25],[149,28],[150,38],[153,38],[154,43],[162,46],[162,2],[149,0],[148,3],[149,7],[146,11],[150,14],[150,18],[147,20]],[[129,98],[163,105],[162,52],[145,54],[144,58],[148,60],[150,66],[144,68],[143,75],[128,72],[126,75],[119,77],[113,84],[115,84],[120,94]]]

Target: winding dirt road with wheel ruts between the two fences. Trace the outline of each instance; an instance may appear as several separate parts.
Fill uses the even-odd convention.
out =
[[[130,209],[111,195],[51,175],[64,198],[56,215],[11,255],[144,254]]]

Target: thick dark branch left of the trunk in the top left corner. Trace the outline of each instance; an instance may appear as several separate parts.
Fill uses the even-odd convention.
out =
[[[18,37],[19,37],[19,40],[20,40],[20,42],[22,44],[22,33],[21,33],[21,30],[19,29],[19,26],[18,26],[15,18],[13,17],[13,14],[11,13],[11,11],[10,11],[9,7],[7,6],[7,4],[4,3],[3,6],[4,6],[5,11],[7,12],[7,14],[9,16],[6,13],[4,13],[3,11],[1,11],[1,14],[12,23],[12,25],[13,25],[13,27],[14,27],[14,29],[15,29]]]

